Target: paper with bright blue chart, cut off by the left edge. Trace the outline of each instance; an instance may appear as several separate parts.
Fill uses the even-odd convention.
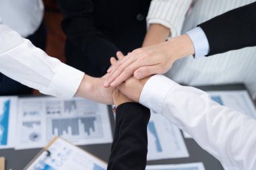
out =
[[[18,97],[0,97],[0,148],[13,148]]]

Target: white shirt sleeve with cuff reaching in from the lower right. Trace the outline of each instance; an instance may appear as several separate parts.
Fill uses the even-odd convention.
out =
[[[228,169],[256,169],[256,120],[210,95],[162,76],[148,80],[139,102],[189,133]]]

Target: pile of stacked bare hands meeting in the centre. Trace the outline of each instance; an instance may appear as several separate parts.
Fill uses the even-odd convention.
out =
[[[113,97],[121,96],[123,101],[123,95],[129,98],[127,101],[139,102],[150,75],[166,73],[176,60],[191,54],[194,54],[193,42],[187,34],[154,46],[138,48],[127,56],[117,52],[119,60],[110,58],[111,67],[106,75],[101,78],[85,75],[86,80],[82,81],[76,95],[106,104],[115,103],[117,100]],[[86,93],[88,91],[90,93]]]

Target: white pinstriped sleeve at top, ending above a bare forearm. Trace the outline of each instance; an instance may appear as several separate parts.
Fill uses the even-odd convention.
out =
[[[161,24],[170,28],[171,36],[179,36],[191,0],[153,0],[147,16],[147,26]]]

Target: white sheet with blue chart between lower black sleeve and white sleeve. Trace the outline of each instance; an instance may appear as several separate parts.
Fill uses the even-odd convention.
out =
[[[181,130],[161,114],[151,114],[148,123],[148,161],[189,157]]]

